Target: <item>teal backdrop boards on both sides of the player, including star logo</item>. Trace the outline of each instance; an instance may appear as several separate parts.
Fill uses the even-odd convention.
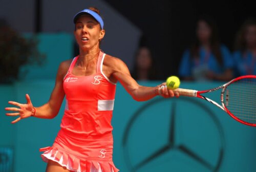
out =
[[[22,80],[0,85],[0,147],[14,149],[13,171],[45,171],[39,148],[52,145],[63,115],[54,119],[27,118],[16,124],[5,116],[8,101],[34,106],[46,103],[54,87],[60,61],[72,58],[73,36],[41,34],[39,49],[45,66],[27,66]],[[163,81],[140,82],[155,86]],[[182,88],[205,90],[221,82],[182,82]],[[220,92],[209,94],[220,100]],[[65,103],[65,102],[63,102]],[[218,107],[197,98],[156,97],[137,102],[117,84],[112,124],[113,160],[120,171],[254,171],[256,128],[243,125]]]

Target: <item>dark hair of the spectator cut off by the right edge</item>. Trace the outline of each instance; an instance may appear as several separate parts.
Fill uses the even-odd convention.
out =
[[[246,51],[246,40],[245,40],[245,34],[246,30],[249,26],[256,26],[256,19],[255,18],[248,18],[245,20],[245,22],[242,24],[240,29],[238,30],[236,34],[236,40],[234,41],[234,49],[235,50],[241,50],[242,52]]]

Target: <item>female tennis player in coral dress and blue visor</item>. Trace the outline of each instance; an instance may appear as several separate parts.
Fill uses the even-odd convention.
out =
[[[47,172],[103,171],[116,172],[112,160],[112,111],[116,82],[137,101],[161,95],[178,97],[162,83],[157,87],[143,87],[130,75],[125,63],[104,54],[100,41],[105,35],[103,20],[96,8],[84,9],[74,16],[74,35],[79,45],[79,55],[60,63],[55,87],[49,101],[34,107],[29,95],[27,104],[10,101],[17,107],[6,107],[9,116],[19,116],[12,123],[34,116],[54,118],[66,95],[65,114],[60,131],[52,146],[41,148],[41,157],[48,162]]]

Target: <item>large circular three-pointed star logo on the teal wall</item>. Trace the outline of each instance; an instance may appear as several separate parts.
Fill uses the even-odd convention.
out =
[[[132,172],[218,171],[224,155],[218,118],[187,97],[147,102],[127,124],[122,144]]]

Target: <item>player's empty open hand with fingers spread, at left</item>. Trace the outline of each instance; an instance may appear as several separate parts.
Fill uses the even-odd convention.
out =
[[[33,104],[31,103],[30,97],[26,94],[27,104],[21,104],[15,101],[9,101],[9,104],[19,106],[18,107],[6,107],[6,111],[14,111],[15,113],[6,113],[7,116],[19,116],[12,123],[18,122],[20,119],[28,118],[33,115]]]

